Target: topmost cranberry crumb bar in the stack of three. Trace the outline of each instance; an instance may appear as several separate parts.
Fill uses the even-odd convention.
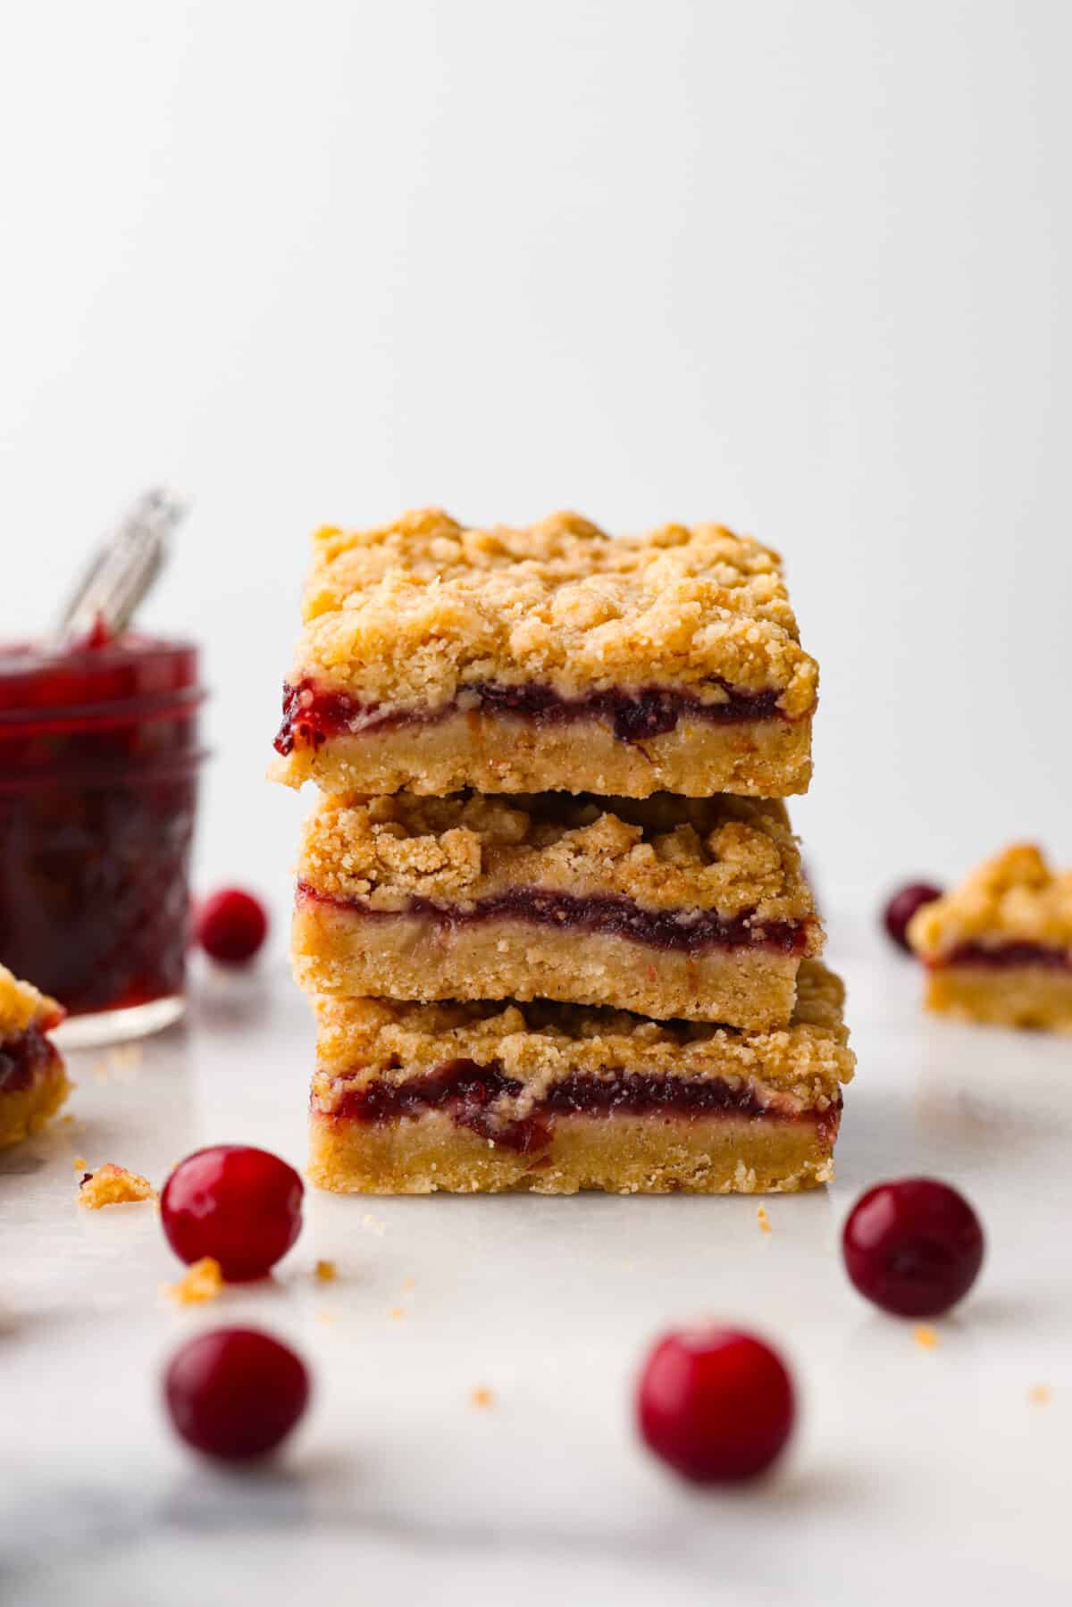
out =
[[[807,791],[818,669],[778,554],[720,525],[328,529],[304,611],[275,744],[291,786]]]

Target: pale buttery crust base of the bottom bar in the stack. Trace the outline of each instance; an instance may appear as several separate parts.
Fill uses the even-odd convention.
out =
[[[813,1122],[569,1115],[519,1154],[429,1110],[391,1127],[312,1114],[309,1178],[336,1194],[792,1194],[834,1175]]]

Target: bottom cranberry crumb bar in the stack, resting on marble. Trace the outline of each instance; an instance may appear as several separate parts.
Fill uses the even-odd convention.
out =
[[[746,1033],[538,1001],[315,1001],[310,1176],[362,1194],[789,1192],[833,1176],[853,1054],[805,959],[792,1022]]]

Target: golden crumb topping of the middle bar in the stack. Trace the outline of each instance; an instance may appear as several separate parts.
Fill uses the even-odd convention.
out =
[[[728,921],[815,921],[784,805],[728,795],[321,797],[305,821],[299,877],[373,910],[405,908],[415,895],[474,903],[538,887]],[[810,953],[820,943],[815,921]]]

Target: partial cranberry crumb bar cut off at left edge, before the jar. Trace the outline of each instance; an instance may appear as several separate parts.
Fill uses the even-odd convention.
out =
[[[0,1149],[37,1133],[71,1091],[48,1032],[63,1009],[0,966]]]

